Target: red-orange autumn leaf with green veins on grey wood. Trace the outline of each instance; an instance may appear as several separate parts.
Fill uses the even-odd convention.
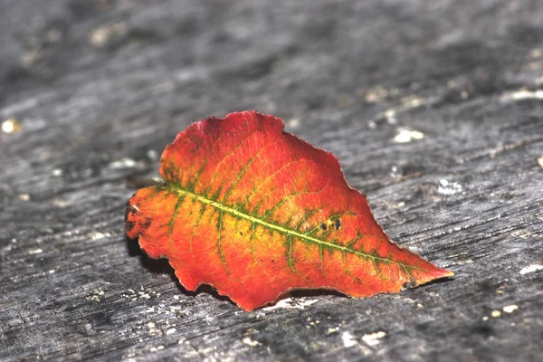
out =
[[[338,158],[283,126],[244,111],[179,133],[166,185],[129,200],[129,237],[188,291],[210,284],[244,310],[296,289],[367,297],[452,275],[390,242]]]

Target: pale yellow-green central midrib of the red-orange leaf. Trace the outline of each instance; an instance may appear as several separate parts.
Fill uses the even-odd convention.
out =
[[[367,254],[365,252],[358,252],[354,249],[349,249],[345,246],[342,246],[342,245],[338,245],[338,244],[335,244],[335,243],[329,243],[329,242],[326,242],[326,241],[322,241],[320,239],[317,239],[317,238],[314,238],[312,236],[309,236],[309,235],[306,235],[306,234],[303,234],[303,233],[299,233],[295,230],[291,230],[291,229],[287,229],[285,227],[282,227],[280,225],[277,225],[277,224],[271,224],[271,223],[268,223],[262,219],[259,219],[258,217],[255,217],[255,216],[252,216],[251,214],[245,214],[239,210],[236,210],[236,209],[233,209],[232,207],[229,207],[227,205],[223,205],[221,203],[218,203],[214,200],[210,200],[208,199],[207,197],[205,196],[202,196],[202,195],[197,195],[195,193],[192,193],[190,191],[187,191],[185,189],[183,189],[182,187],[180,186],[172,186],[172,185],[167,185],[167,188],[172,191],[172,192],[175,192],[176,194],[180,195],[180,196],[188,196],[188,197],[191,197],[205,205],[211,205],[211,206],[214,206],[215,208],[219,209],[219,210],[222,210],[224,213],[228,213],[228,214],[233,214],[234,216],[237,216],[237,217],[240,217],[240,218],[243,218],[245,220],[248,220],[254,224],[260,224],[264,227],[267,227],[271,230],[276,230],[280,233],[286,233],[287,235],[292,235],[292,236],[296,236],[302,240],[306,240],[308,242],[311,242],[311,243],[316,243],[318,245],[322,245],[322,246],[327,246],[327,247],[330,247],[332,249],[337,249],[341,252],[349,252],[349,253],[353,253],[353,254],[356,254],[358,256],[361,256],[361,257],[364,257],[364,258],[369,258],[371,260],[374,260],[374,261],[382,261],[382,262],[392,262],[392,263],[395,263],[395,264],[398,264],[404,268],[414,268],[414,269],[419,269],[413,265],[407,265],[407,264],[404,264],[402,262],[395,262],[393,260],[390,260],[390,259],[386,259],[386,258],[383,258],[383,257],[379,257],[379,256],[374,256],[374,255],[370,255],[370,254]]]

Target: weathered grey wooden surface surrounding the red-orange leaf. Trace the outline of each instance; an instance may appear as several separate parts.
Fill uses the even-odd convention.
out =
[[[4,0],[0,19],[0,117],[22,124],[0,132],[0,359],[540,360],[543,2]],[[125,238],[127,180],[245,109],[335,153],[455,278],[250,313],[184,291]]]

